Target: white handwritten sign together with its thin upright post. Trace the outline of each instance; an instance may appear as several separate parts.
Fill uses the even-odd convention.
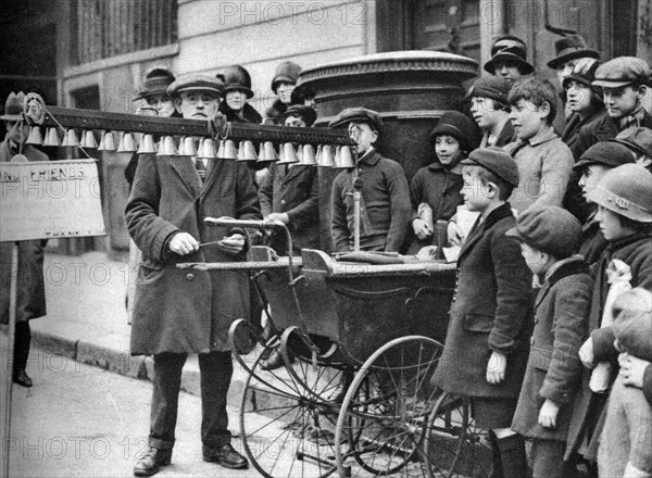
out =
[[[0,163],[0,242],[13,243],[9,324],[0,326],[1,477],[9,477],[18,242],[105,234],[95,160]]]

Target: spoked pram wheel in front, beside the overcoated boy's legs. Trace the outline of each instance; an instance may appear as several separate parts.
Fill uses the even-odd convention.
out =
[[[430,378],[441,350],[439,342],[427,337],[403,337],[364,363],[338,417],[335,450],[340,476],[428,474],[425,435],[441,394]]]

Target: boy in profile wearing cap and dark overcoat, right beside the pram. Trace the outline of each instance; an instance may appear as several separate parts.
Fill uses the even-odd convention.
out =
[[[530,332],[532,276],[507,198],[518,167],[501,148],[473,151],[462,162],[462,194],[480,213],[457,259],[457,280],[434,385],[469,397],[475,423],[491,429],[493,476],[523,478],[523,438],[510,429],[523,382]]]

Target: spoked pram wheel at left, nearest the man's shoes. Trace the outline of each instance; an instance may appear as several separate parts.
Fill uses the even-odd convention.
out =
[[[240,407],[240,431],[247,456],[265,477],[327,477],[337,471],[337,407],[328,397],[341,372],[296,360],[285,367],[260,368],[259,356],[247,377]],[[300,376],[301,380],[294,377]]]

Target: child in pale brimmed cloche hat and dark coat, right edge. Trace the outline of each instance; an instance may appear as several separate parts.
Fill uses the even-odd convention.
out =
[[[637,164],[624,164],[609,171],[589,192],[588,199],[598,204],[595,219],[609,246],[595,266],[595,286],[589,315],[589,339],[579,357],[586,367],[611,362],[617,370],[617,352],[611,327],[602,327],[604,305],[613,278],[617,273],[614,260],[627,267],[631,287],[652,291],[652,174]],[[603,387],[590,388],[591,370],[585,369],[584,385],[574,405],[566,456],[581,454],[595,463],[597,446],[602,431],[604,403],[615,378],[607,377]]]

